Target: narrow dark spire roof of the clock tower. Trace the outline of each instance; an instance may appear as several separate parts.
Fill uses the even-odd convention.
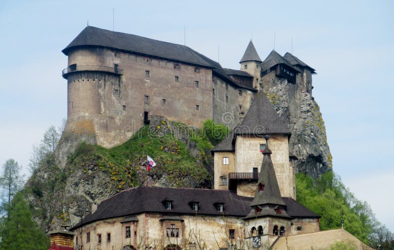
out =
[[[260,170],[259,181],[257,182],[258,185],[262,183],[264,188],[259,191],[258,185],[256,186],[255,197],[250,204],[252,208],[265,204],[286,206],[286,203],[282,200],[282,196],[280,195],[271,154],[271,150],[266,147],[263,151],[263,163]]]

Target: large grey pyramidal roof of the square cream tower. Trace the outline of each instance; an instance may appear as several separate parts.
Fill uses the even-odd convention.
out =
[[[256,94],[242,123],[234,127],[234,134],[287,134],[288,126],[279,117],[272,103],[262,92]]]

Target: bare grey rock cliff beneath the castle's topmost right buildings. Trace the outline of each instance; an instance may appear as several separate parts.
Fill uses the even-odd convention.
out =
[[[289,125],[290,156],[296,156],[297,172],[308,173],[314,180],[332,168],[326,126],[319,105],[300,84],[288,83],[271,72],[262,79],[263,92],[278,114]]]

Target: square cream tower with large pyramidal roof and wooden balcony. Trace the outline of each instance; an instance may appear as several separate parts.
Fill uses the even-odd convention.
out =
[[[273,152],[273,166],[283,196],[296,199],[295,174],[289,161],[288,126],[262,92],[256,95],[245,119],[212,150],[214,154],[214,188],[236,190],[254,196],[258,173],[263,161],[265,137]]]

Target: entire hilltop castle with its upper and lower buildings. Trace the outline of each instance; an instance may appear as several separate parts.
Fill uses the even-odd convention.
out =
[[[183,45],[90,26],[63,53],[70,141],[112,147],[157,115],[231,132],[212,150],[214,189],[124,190],[94,204],[74,233],[54,232],[53,249],[365,247],[343,229],[319,232],[320,216],[296,202],[288,121],[263,94],[275,79],[312,94],[315,69],[292,54],[262,61],[250,41],[240,70],[225,69]]]

